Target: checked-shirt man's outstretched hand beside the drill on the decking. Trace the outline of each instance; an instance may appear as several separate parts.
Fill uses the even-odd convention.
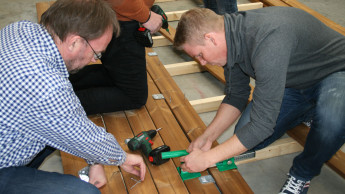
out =
[[[141,181],[144,181],[146,166],[141,156],[127,153],[126,161],[120,167],[128,173],[137,175]],[[139,169],[136,167],[139,167]]]

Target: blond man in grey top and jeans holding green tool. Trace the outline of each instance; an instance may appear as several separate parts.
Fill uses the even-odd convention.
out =
[[[307,193],[310,180],[345,142],[345,37],[308,13],[269,7],[216,15],[197,8],[177,27],[176,48],[201,65],[222,66],[225,98],[205,132],[181,158],[189,172],[261,149],[286,130],[312,119],[281,193]],[[253,100],[247,106],[250,77]],[[238,117],[235,134],[211,144]],[[202,161],[202,162],[200,162]]]

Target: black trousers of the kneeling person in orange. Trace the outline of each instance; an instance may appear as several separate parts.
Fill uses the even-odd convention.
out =
[[[102,64],[89,65],[70,76],[86,113],[137,109],[147,100],[145,48],[134,38],[139,24],[120,22],[121,35],[113,37]]]

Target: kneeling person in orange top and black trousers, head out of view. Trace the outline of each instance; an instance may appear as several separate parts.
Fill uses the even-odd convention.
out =
[[[162,16],[151,12],[154,0],[108,0],[121,26],[102,64],[89,65],[70,76],[73,88],[88,115],[138,109],[146,104],[147,75],[145,47],[134,33],[140,25],[151,33],[162,26]],[[97,52],[97,51],[96,51]]]

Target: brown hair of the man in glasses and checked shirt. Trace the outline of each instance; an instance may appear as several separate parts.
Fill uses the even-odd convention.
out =
[[[120,33],[116,14],[104,0],[57,0],[42,14],[40,23],[61,41],[69,34],[93,40],[109,27]]]

